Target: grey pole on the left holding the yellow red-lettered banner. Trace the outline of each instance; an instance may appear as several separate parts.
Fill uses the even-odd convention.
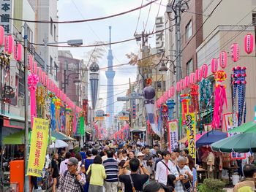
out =
[[[24,23],[24,87],[25,87],[25,151],[24,191],[29,191],[29,176],[26,174],[29,161],[29,87],[28,87],[28,25]]]

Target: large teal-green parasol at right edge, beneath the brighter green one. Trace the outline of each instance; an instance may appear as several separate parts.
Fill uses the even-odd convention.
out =
[[[232,137],[219,140],[211,144],[211,148],[215,151],[224,153],[238,152],[256,152],[256,131],[252,133],[236,134]]]

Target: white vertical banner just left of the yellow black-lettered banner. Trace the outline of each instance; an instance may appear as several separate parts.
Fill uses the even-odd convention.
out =
[[[178,147],[178,120],[168,121],[169,150],[173,152]]]

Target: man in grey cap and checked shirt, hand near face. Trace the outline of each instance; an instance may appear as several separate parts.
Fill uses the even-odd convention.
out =
[[[61,175],[58,192],[82,192],[85,184],[86,176],[82,172],[78,172],[78,159],[69,158],[67,171]]]

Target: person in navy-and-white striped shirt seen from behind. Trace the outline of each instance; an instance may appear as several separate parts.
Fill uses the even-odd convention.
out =
[[[105,192],[116,192],[118,187],[118,163],[113,158],[113,151],[107,151],[108,158],[103,161],[107,177],[105,178]]]

